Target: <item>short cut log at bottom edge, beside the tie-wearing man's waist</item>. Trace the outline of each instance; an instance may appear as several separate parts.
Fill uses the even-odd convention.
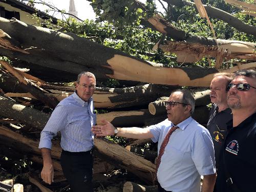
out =
[[[146,186],[140,185],[131,181],[123,184],[123,192],[157,192],[157,185]]]

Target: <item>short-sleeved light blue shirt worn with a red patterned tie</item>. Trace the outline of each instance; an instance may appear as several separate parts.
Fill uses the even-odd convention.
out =
[[[160,146],[174,124],[168,119],[149,126],[153,142]],[[216,173],[214,144],[205,127],[189,117],[170,136],[157,172],[160,185],[173,192],[201,191],[201,175]]]

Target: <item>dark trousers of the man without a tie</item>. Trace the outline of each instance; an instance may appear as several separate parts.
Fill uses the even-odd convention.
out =
[[[88,152],[67,152],[62,150],[60,163],[71,191],[93,192],[93,154]]]

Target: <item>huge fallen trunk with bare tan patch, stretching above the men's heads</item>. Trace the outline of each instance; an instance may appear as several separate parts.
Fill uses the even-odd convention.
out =
[[[9,21],[1,18],[0,28],[19,42],[23,49],[37,48],[27,50],[29,54],[0,48],[1,54],[74,74],[91,71],[97,77],[205,87],[209,86],[213,74],[220,71],[203,68],[153,67],[151,63],[142,59],[104,47],[75,34],[25,25],[18,20]]]

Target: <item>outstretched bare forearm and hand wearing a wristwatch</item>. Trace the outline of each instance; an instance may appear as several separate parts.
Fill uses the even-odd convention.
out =
[[[92,132],[95,136],[109,136],[114,135],[115,127],[106,120],[102,120],[104,125],[95,125],[92,126]],[[153,134],[150,132],[150,129],[139,128],[139,127],[129,127],[129,128],[117,128],[118,133],[117,137],[126,137],[133,139],[150,139],[153,138]]]

